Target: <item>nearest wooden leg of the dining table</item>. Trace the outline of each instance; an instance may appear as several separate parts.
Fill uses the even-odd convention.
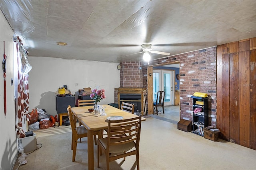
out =
[[[93,131],[87,130],[87,145],[88,145],[88,169],[94,170],[94,149],[93,149]]]

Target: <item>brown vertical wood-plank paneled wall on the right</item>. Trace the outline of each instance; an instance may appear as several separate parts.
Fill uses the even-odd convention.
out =
[[[220,138],[256,149],[256,38],[217,46]]]

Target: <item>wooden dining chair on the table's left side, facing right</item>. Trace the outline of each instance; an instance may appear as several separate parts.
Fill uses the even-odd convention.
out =
[[[72,161],[75,161],[76,158],[76,146],[77,146],[77,141],[78,139],[81,139],[83,137],[87,137],[87,130],[85,129],[84,126],[78,126],[76,127],[76,123],[74,122],[73,119],[73,113],[71,111],[71,106],[69,105],[67,108],[68,111],[68,117],[72,129],[72,142],[71,142],[71,149],[73,150],[73,156],[72,156]],[[96,139],[96,135],[101,135],[100,131],[94,131],[94,140]],[[97,145],[97,141],[95,141],[95,145]]]

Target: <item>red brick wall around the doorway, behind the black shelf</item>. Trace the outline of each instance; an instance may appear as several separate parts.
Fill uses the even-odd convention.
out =
[[[180,118],[192,121],[194,92],[208,94],[209,125],[216,125],[216,47],[156,59],[149,65],[180,62]],[[147,88],[146,65],[142,68],[143,87]]]

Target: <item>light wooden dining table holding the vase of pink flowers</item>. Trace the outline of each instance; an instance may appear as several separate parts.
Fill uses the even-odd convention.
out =
[[[108,128],[108,123],[106,119],[110,116],[122,116],[123,119],[130,119],[133,117],[138,117],[132,113],[120,110],[116,107],[110,105],[102,105],[105,107],[106,115],[94,115],[94,112],[89,112],[88,109],[92,106],[83,106],[83,107],[72,107],[71,110],[74,113],[74,121],[76,118],[84,125],[87,129],[87,145],[88,145],[88,170],[94,170],[94,142],[93,142],[93,131],[103,130]],[[142,121],[145,121],[146,118],[142,117]]]

